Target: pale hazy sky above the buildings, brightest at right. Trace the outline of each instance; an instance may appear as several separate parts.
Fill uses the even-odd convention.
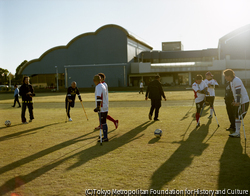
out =
[[[250,23],[250,0],[0,0],[0,67],[15,73],[74,37],[116,24],[154,50],[181,41],[184,50],[217,48]]]

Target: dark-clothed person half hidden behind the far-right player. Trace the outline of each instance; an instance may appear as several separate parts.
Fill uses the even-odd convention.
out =
[[[227,115],[230,121],[230,126],[226,129],[227,131],[235,131],[235,109],[232,105],[234,101],[233,92],[231,90],[230,82],[227,82],[225,89],[225,104],[227,109]]]

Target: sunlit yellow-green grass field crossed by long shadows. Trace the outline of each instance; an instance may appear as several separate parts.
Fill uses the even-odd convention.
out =
[[[13,95],[0,94],[0,195],[85,195],[86,189],[250,190],[250,143],[229,138],[223,93],[218,93],[215,118],[205,108],[196,129],[191,91],[165,92],[160,121],[148,120],[150,101],[133,92],[110,93],[109,139],[97,142],[98,116],[94,94],[82,93],[86,120],[79,101],[65,123],[65,93],[34,97],[35,120],[21,124]],[[76,98],[77,99],[77,98]],[[28,112],[26,113],[28,117]],[[10,120],[10,127],[4,121]],[[249,114],[245,120],[250,138]],[[157,139],[154,130],[163,136]],[[14,195],[14,194],[12,194]]]

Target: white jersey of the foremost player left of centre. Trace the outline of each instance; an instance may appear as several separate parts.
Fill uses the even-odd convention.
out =
[[[96,107],[97,107],[97,97],[101,97],[101,112],[108,112],[109,109],[109,99],[107,89],[105,85],[99,83],[95,87],[95,100],[96,100]]]

